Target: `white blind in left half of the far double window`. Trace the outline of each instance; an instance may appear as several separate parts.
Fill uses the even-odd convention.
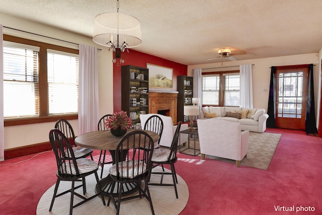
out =
[[[219,104],[219,75],[202,76],[202,103]]]

